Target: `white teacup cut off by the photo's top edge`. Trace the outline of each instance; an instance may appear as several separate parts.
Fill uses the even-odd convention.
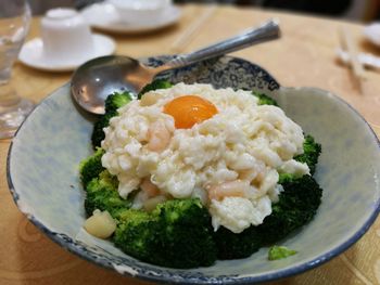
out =
[[[172,0],[109,0],[125,23],[148,23],[161,18]]]

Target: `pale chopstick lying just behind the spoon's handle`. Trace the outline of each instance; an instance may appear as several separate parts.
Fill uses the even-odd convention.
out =
[[[210,20],[216,11],[216,4],[210,4],[203,11],[203,13],[193,21],[189,27],[182,33],[172,44],[170,50],[175,53],[181,53],[188,46],[188,43],[193,39],[203,25]]]

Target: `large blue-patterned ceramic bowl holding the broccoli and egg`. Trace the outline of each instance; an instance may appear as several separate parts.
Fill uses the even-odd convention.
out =
[[[161,59],[162,60],[162,59]],[[149,60],[152,65],[157,59]],[[315,219],[282,245],[297,250],[268,261],[267,248],[250,258],[210,268],[175,270],[140,262],[81,230],[84,192],[78,164],[91,153],[93,117],[73,103],[68,85],[43,100],[14,138],[8,158],[9,185],[20,210],[50,238],[79,257],[121,274],[178,284],[246,284],[312,269],[355,243],[379,213],[379,141],[366,121],[331,93],[280,88],[261,67],[220,57],[167,74],[173,81],[256,89],[278,100],[305,132],[322,144],[316,179],[325,189]]]

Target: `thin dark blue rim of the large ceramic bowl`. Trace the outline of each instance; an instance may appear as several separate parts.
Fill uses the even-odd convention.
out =
[[[254,63],[251,63],[248,60],[236,57],[236,56],[225,56],[225,57],[231,57],[231,59],[246,62],[251,65],[257,66],[263,72],[267,73],[264,68],[262,68],[261,66],[258,66]],[[160,59],[160,56],[152,56],[152,59]],[[267,74],[270,76],[269,73],[267,73]],[[271,78],[274,79],[274,77],[271,77]],[[276,79],[274,79],[274,80],[276,81]],[[65,85],[59,87],[54,91],[52,91],[47,98],[45,98],[34,108],[34,111],[30,114],[33,114],[36,109],[38,109],[43,101],[52,98],[59,90],[67,88],[67,87],[69,87],[69,81],[66,82]],[[375,138],[375,141],[377,142],[377,145],[378,145],[379,151],[380,151],[380,139],[378,138],[376,132],[372,130],[370,125],[366,121],[366,119],[353,106],[351,106],[347,102],[345,102],[340,96],[338,96],[329,91],[326,91],[324,89],[314,88],[314,87],[289,88],[289,87],[281,87],[280,86],[280,88],[287,89],[287,90],[308,89],[308,90],[328,93],[333,100],[335,100],[340,103],[343,103],[349,109],[351,109],[351,112],[353,112],[360,119],[362,122],[364,122],[368,127],[368,129],[370,130],[372,137]],[[73,102],[73,104],[75,104],[75,103]],[[21,125],[21,127],[16,131],[14,138],[17,137],[18,131],[21,131],[23,129],[25,121],[27,121],[29,118],[30,118],[30,116],[28,116],[23,121],[23,124]],[[238,276],[231,276],[230,278],[227,278],[227,280],[224,278],[225,276],[221,276],[220,280],[218,280],[218,276],[217,277],[211,277],[211,276],[197,277],[195,276],[194,278],[187,280],[186,277],[181,276],[181,274],[178,274],[178,273],[173,274],[173,276],[177,277],[174,280],[170,277],[161,276],[160,274],[148,274],[145,271],[141,271],[141,272],[138,271],[136,274],[128,272],[128,271],[119,272],[116,270],[116,268],[113,265],[113,263],[99,261],[96,257],[93,257],[91,255],[86,255],[83,250],[79,250],[78,246],[80,246],[80,245],[77,241],[75,241],[75,239],[73,239],[64,234],[59,234],[59,233],[55,233],[55,232],[49,230],[48,226],[46,226],[42,222],[40,222],[34,215],[28,213],[25,210],[25,208],[23,208],[18,204],[20,196],[18,196],[16,189],[14,187],[14,184],[12,181],[12,174],[11,174],[11,172],[12,172],[11,159],[12,159],[13,146],[14,146],[14,141],[12,140],[10,147],[9,147],[9,151],[8,151],[8,157],[7,157],[7,181],[8,181],[9,190],[12,194],[13,200],[16,204],[18,210],[21,212],[23,212],[34,225],[36,225],[50,239],[52,239],[54,243],[62,246],[64,249],[68,250],[69,252],[75,254],[76,256],[78,256],[87,261],[90,261],[91,263],[94,263],[94,264],[100,265],[100,267],[105,268],[105,269],[116,271],[121,275],[130,276],[130,277],[138,277],[138,278],[141,278],[144,281],[150,281],[150,282],[157,282],[157,283],[165,283],[165,284],[252,284],[252,283],[269,282],[269,281],[275,281],[275,280],[280,280],[280,278],[293,276],[295,274],[300,274],[302,272],[305,272],[305,271],[314,269],[318,265],[321,265],[321,264],[326,263],[327,261],[331,260],[332,258],[339,256],[343,251],[345,251],[349,247],[351,247],[353,244],[355,244],[369,230],[369,228],[371,226],[371,224],[375,222],[375,220],[377,219],[377,217],[380,213],[380,195],[379,195],[378,199],[376,200],[376,203],[373,205],[373,210],[371,211],[368,219],[364,222],[364,224],[353,235],[349,236],[339,246],[332,248],[331,250],[329,250],[325,254],[321,254],[321,255],[313,258],[312,260],[309,260],[307,262],[303,262],[303,263],[296,264],[296,265],[291,267],[291,268],[284,268],[281,270],[277,270],[276,272],[267,272],[265,274],[257,274],[257,275],[253,275],[253,276],[252,275],[242,275],[242,276],[238,275]],[[66,238],[65,238],[65,236],[66,236]],[[67,238],[69,238],[71,242],[67,242]],[[147,263],[147,264],[152,265],[150,263]],[[127,265],[127,267],[130,267],[130,265]],[[159,268],[161,268],[161,267],[159,267]],[[132,269],[132,268],[130,268],[130,269]],[[170,269],[170,268],[162,268],[162,269],[163,270],[176,270],[176,269]],[[189,269],[189,271],[191,271],[191,270],[194,270],[194,269]],[[227,276],[227,277],[229,277],[229,276]]]

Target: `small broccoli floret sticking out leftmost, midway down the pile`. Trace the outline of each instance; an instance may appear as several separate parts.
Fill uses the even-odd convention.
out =
[[[104,151],[99,147],[92,156],[87,157],[80,163],[79,174],[85,189],[93,178],[97,178],[100,172],[104,170],[104,167],[102,166],[103,154]]]

